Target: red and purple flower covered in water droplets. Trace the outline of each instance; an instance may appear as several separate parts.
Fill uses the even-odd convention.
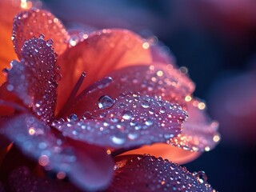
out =
[[[202,172],[162,159],[175,158],[167,154],[175,151],[171,145],[195,151],[177,153],[187,161],[219,140],[218,124],[191,96],[194,83],[174,65],[159,63],[160,53],[133,32],[81,36],[74,42],[46,10],[14,18],[19,61],[11,62],[0,90],[2,136],[81,190],[212,190]],[[143,155],[149,152],[162,158]],[[12,171],[8,183],[14,191],[74,190],[25,167]]]

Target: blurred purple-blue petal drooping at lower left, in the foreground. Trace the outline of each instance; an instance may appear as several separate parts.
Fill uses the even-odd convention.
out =
[[[46,170],[66,173],[82,189],[98,190],[110,182],[113,162],[102,148],[62,140],[30,114],[12,118],[4,131],[24,154],[38,160]]]

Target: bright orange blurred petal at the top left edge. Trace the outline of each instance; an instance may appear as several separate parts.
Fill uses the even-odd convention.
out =
[[[13,27],[13,18],[21,8],[19,5],[14,5],[14,1],[0,1],[0,85],[5,81],[6,77],[2,74],[4,68],[10,66],[10,61],[16,59],[14,46],[11,42],[11,30]]]

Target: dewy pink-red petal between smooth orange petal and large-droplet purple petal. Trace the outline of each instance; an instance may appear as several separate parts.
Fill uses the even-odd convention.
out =
[[[157,63],[154,66],[129,66],[108,74],[113,82],[101,86],[97,91],[83,91],[75,99],[67,114],[82,114],[98,108],[98,98],[108,95],[117,98],[119,94],[139,92],[142,95],[160,96],[162,100],[186,106],[186,95],[194,91],[194,83],[185,74],[171,65]],[[103,88],[102,88],[103,87]],[[145,106],[147,102],[145,103]]]

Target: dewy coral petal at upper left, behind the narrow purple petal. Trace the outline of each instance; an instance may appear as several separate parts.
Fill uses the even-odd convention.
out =
[[[58,54],[66,50],[69,35],[58,18],[46,10],[30,9],[14,18],[13,42],[18,58],[22,58],[21,49],[24,43],[39,34],[54,40],[54,51]]]

